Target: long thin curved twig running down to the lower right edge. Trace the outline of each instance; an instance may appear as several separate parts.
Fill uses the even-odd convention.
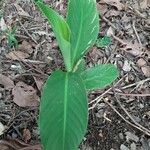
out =
[[[126,123],[128,123],[129,125],[131,125],[132,127],[136,128],[136,129],[142,131],[142,132],[145,133],[146,135],[150,136],[150,133],[149,133],[149,132],[147,132],[147,131],[141,129],[140,127],[136,126],[135,124],[133,124],[133,123],[131,123],[130,121],[128,121],[127,119],[125,119],[125,118],[116,110],[116,108],[115,108],[112,104],[110,104],[110,103],[108,102],[108,100],[105,99],[104,102],[107,103],[107,104],[118,114],[118,116],[120,116]]]

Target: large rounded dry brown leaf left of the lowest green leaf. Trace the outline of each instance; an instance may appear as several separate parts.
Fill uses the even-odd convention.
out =
[[[36,90],[24,82],[18,82],[12,90],[13,101],[20,107],[38,106],[39,97]]]

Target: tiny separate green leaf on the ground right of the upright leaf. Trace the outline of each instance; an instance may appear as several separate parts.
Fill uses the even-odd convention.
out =
[[[96,42],[96,46],[100,48],[105,48],[111,44],[111,38],[109,36],[104,36]]]

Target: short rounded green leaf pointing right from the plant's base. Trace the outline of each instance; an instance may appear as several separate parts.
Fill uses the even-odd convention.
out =
[[[117,77],[118,70],[112,64],[98,65],[81,73],[86,89],[101,89],[110,85]]]

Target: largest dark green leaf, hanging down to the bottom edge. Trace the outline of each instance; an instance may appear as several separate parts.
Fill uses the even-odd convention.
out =
[[[77,150],[87,119],[86,90],[80,76],[54,72],[41,98],[39,121],[44,150]]]

